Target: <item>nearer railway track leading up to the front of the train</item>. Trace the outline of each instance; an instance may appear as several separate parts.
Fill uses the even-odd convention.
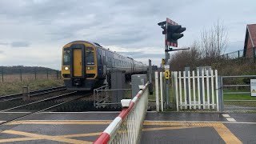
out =
[[[86,94],[78,94],[78,95],[75,95],[75,94],[78,94],[78,91],[72,91],[72,92],[69,92],[69,93],[66,93],[66,94],[61,94],[61,95],[55,96],[53,98],[46,98],[46,99],[42,99],[42,100],[37,101],[37,102],[30,102],[30,103],[27,103],[27,104],[22,105],[22,106],[15,106],[15,107],[12,107],[12,108],[9,108],[9,109],[6,109],[6,110],[1,110],[0,112],[6,112],[6,111],[9,111],[9,110],[18,109],[18,108],[21,108],[21,107],[38,104],[40,102],[47,102],[47,101],[53,101],[53,100],[60,99],[60,98],[65,99],[66,97],[71,97],[71,98],[66,98],[64,101],[59,101],[57,104],[54,104],[52,106],[43,107],[40,110],[35,110],[35,111],[30,112],[28,114],[24,114],[22,116],[18,116],[17,118],[12,118],[10,120],[7,120],[6,122],[2,122],[2,123],[0,123],[0,126],[4,125],[6,123],[9,123],[9,122],[16,121],[16,120],[21,119],[21,118],[26,118],[27,116],[30,116],[32,114],[37,114],[37,113],[40,113],[40,112],[45,111],[45,110],[53,110],[54,108],[56,108],[58,106],[62,106],[62,105],[65,105],[69,102],[74,102],[78,99],[88,97],[93,93],[90,92],[90,93],[86,93]]]

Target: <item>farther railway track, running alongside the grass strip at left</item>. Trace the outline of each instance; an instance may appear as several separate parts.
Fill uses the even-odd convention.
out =
[[[57,87],[51,87],[51,88],[42,89],[42,90],[30,91],[30,97],[34,97],[42,94],[49,94],[49,93],[53,93],[61,90],[66,90],[66,86],[57,86]],[[8,102],[12,100],[21,99],[21,98],[22,98],[22,93],[4,95],[0,97],[0,102]]]

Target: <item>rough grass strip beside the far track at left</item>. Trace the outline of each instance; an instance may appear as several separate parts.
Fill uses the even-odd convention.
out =
[[[62,79],[36,79],[22,82],[0,82],[0,95],[21,93],[23,86],[29,86],[32,91],[63,85],[64,82]]]

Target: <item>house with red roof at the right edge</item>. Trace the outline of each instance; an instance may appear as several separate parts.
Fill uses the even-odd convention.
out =
[[[243,55],[246,58],[254,58],[256,54],[256,24],[246,26],[246,39],[243,49]],[[256,56],[256,55],[255,55]]]

